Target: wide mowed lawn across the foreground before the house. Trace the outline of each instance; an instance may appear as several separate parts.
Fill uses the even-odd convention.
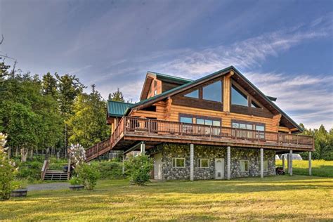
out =
[[[0,202],[0,220],[333,220],[333,178],[273,176],[231,181],[100,181],[96,190],[30,191]]]

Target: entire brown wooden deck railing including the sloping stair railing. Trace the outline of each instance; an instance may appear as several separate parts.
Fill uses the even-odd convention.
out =
[[[171,122],[159,119],[143,119],[136,117],[123,117],[120,119],[110,139],[106,139],[86,150],[87,161],[111,150],[123,136],[169,136],[173,138],[191,139],[193,137],[202,140],[239,142],[263,145],[295,145],[313,148],[312,136],[303,136],[288,133],[270,131],[256,131],[250,129],[236,129],[225,126],[208,126],[202,124],[188,124]]]

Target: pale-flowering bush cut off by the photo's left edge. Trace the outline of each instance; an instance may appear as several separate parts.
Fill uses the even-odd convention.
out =
[[[15,183],[15,174],[18,172],[15,162],[8,160],[6,146],[7,136],[0,133],[0,199],[8,200],[11,197],[11,192],[18,188]]]

